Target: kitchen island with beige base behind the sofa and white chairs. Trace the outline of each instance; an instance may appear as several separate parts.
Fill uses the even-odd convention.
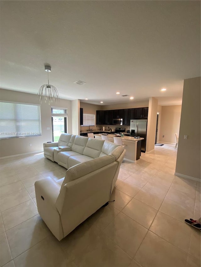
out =
[[[102,138],[101,134],[95,134],[95,138]],[[108,134],[108,140],[110,142],[114,142],[114,135]],[[126,154],[124,157],[124,160],[127,160],[129,162],[135,162],[140,157],[141,152],[141,140],[144,138],[136,139],[132,136],[124,136],[124,137],[118,137],[122,139],[122,145],[124,145],[126,149]]]

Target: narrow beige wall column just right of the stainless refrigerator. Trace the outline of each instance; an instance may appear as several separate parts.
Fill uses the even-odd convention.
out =
[[[147,121],[146,152],[149,152],[155,148],[157,109],[158,109],[158,100],[154,97],[150,97],[148,121]]]

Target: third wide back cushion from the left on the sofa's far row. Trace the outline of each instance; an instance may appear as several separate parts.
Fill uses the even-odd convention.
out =
[[[89,138],[86,147],[84,148],[83,155],[88,157],[97,158],[103,146],[104,140]]]

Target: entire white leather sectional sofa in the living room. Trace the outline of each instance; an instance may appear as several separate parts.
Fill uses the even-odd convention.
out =
[[[44,143],[44,156],[68,169],[58,181],[35,182],[38,212],[58,240],[108,203],[124,155],[122,146],[84,136]]]

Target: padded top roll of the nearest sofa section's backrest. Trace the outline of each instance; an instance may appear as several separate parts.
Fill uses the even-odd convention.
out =
[[[105,157],[101,157],[101,158],[95,158],[93,160],[84,162],[84,163],[80,163],[76,166],[73,166],[71,168],[69,168],[66,171],[66,175],[64,178],[64,181],[62,183],[60,192],[62,190],[62,187],[70,181],[73,181],[75,179],[78,179],[81,176],[87,175],[90,172],[94,172],[108,164],[111,164],[112,162],[115,162],[115,157],[113,155],[108,155]]]

